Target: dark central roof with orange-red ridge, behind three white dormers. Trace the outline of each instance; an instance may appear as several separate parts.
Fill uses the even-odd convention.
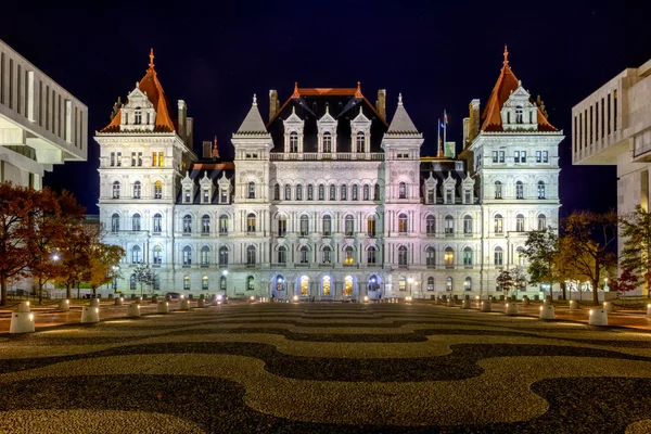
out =
[[[317,152],[318,124],[327,112],[337,120],[336,149],[339,152],[350,151],[350,122],[359,116],[360,108],[363,116],[371,122],[371,152],[382,152],[382,136],[388,125],[378,113],[373,104],[357,88],[299,88],[294,85],[294,92],[282,104],[278,113],[267,124],[271,133],[275,148],[272,152],[284,151],[284,120],[292,113],[304,120],[303,149],[304,152]]]

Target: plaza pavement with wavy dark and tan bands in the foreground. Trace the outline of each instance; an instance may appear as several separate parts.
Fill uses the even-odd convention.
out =
[[[651,333],[229,304],[0,335],[0,433],[643,433]]]

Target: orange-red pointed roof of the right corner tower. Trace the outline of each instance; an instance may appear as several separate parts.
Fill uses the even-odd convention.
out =
[[[503,131],[501,123],[501,110],[505,102],[509,99],[511,92],[515,91],[519,87],[518,78],[509,66],[509,51],[505,47],[505,61],[500,71],[497,82],[490,92],[490,97],[486,102],[486,107],[482,113],[482,131]],[[537,110],[538,119],[538,131],[558,131],[553,125],[551,125],[539,107]]]

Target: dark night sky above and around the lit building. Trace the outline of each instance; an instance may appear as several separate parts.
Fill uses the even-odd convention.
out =
[[[600,3],[604,3],[600,5]],[[144,75],[149,50],[173,105],[183,99],[195,120],[194,149],[217,135],[222,156],[258,94],[282,102],[301,87],[355,87],[375,101],[398,92],[436,146],[436,119],[447,110],[448,140],[461,140],[473,98],[488,98],[505,43],[513,72],[540,94],[561,143],[561,214],[616,206],[612,166],[572,166],[571,108],[625,67],[651,58],[649,1],[175,1],[87,2],[84,9],[3,4],[3,39],[90,108],[88,162],[58,166],[46,184],[72,190],[90,213],[99,192],[95,130],[113,103]],[[124,4],[124,8],[114,7]],[[608,5],[607,5],[608,4]]]

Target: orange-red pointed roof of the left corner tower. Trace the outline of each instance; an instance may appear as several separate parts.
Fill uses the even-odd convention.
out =
[[[176,122],[173,120],[171,114],[174,111],[169,105],[169,101],[165,95],[163,86],[158,81],[158,73],[154,69],[154,49],[150,51],[150,63],[144,77],[138,84],[138,88],[146,93],[148,99],[156,110],[156,124],[154,131],[156,132],[173,132],[176,130]],[[118,110],[111,120],[111,124],[100,130],[100,132],[118,132],[120,123],[120,111]]]

